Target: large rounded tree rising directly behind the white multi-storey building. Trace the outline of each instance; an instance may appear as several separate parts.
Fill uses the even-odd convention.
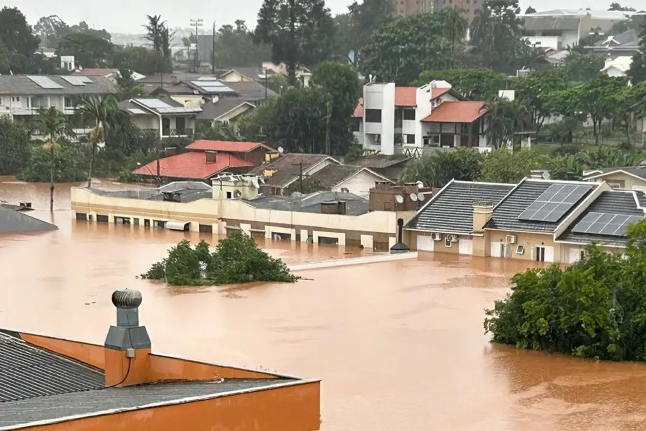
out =
[[[398,18],[378,29],[361,50],[361,70],[381,82],[408,85],[424,70],[449,68],[451,43],[438,14]]]

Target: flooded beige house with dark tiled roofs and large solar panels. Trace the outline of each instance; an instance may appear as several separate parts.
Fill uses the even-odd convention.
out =
[[[407,239],[419,251],[573,263],[592,243],[621,252],[645,204],[603,182],[452,181],[408,221]]]

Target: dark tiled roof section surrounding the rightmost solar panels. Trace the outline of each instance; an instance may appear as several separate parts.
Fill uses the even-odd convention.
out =
[[[636,200],[637,199],[637,200]],[[608,236],[608,235],[595,235],[589,233],[575,233],[572,229],[579,223],[586,214],[590,212],[601,212],[609,214],[623,214],[644,216],[644,211],[638,208],[637,202],[640,206],[646,204],[646,197],[643,193],[636,191],[605,191],[602,192],[597,199],[579,216],[576,220],[570,223],[568,229],[558,237],[558,241],[578,242],[583,244],[590,244],[593,242],[606,245],[619,245],[625,246],[628,238],[625,236]]]

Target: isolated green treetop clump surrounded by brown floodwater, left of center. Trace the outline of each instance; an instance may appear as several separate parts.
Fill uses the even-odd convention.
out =
[[[168,257],[155,263],[141,277],[178,286],[215,286],[252,281],[294,283],[298,280],[282,260],[262,251],[242,231],[229,233],[212,253],[204,240],[195,247],[183,240],[168,251]]]

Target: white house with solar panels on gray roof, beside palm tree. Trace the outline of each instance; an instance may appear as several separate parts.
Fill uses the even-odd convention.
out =
[[[154,131],[160,139],[189,137],[195,131],[199,107],[185,107],[172,99],[130,99],[119,103],[132,124],[142,130]]]

